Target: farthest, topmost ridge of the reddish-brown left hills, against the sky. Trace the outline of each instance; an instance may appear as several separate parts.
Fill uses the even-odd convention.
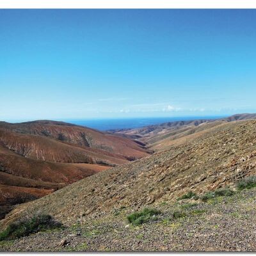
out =
[[[20,124],[1,122],[0,127],[22,134],[36,134],[45,138],[54,138],[58,141],[76,146],[104,150],[105,152],[118,154],[127,159],[138,159],[147,156],[147,151],[132,140],[64,122],[48,120]]]

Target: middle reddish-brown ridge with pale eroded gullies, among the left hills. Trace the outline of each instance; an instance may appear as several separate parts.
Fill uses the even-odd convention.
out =
[[[68,144],[54,138],[20,134],[0,128],[0,143],[24,157],[57,163],[123,164],[127,159],[96,148]]]

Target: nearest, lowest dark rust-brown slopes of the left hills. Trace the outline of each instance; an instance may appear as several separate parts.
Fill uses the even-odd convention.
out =
[[[108,166],[52,163],[23,157],[0,145],[0,217],[15,204],[34,200]]]

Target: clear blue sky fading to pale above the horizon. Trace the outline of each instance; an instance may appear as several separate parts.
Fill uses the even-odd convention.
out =
[[[256,112],[256,10],[0,10],[0,120]]]

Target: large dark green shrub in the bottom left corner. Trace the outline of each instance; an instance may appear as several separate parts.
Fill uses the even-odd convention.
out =
[[[38,214],[31,218],[27,217],[19,221],[15,221],[0,232],[0,241],[12,240],[23,236],[29,236],[42,230],[62,227],[60,222],[54,221],[52,216],[47,214]]]

